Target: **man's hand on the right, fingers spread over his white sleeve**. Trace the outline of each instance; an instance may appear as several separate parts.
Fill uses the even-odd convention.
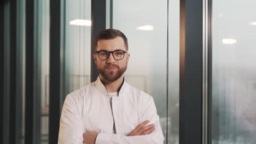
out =
[[[155,130],[155,125],[149,124],[145,126],[147,123],[149,123],[148,120],[139,124],[128,136],[147,135],[152,133]]]

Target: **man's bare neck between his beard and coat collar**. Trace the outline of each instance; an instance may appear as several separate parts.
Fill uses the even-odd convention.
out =
[[[124,76],[122,75],[121,77],[119,77],[119,79],[117,79],[116,81],[113,82],[109,82],[107,80],[105,80],[101,75],[100,75],[100,80],[103,83],[103,85],[105,86],[105,88],[107,89],[108,93],[114,93],[114,92],[118,92],[119,89],[121,88],[123,81],[124,81]]]

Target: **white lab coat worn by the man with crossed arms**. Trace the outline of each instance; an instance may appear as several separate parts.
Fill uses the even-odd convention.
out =
[[[112,97],[101,80],[68,94],[62,108],[59,143],[83,143],[83,133],[96,131],[97,143],[163,143],[164,136],[153,98],[124,81],[117,97]],[[112,115],[113,112],[113,115]],[[143,121],[155,124],[153,133],[127,136]],[[113,134],[115,123],[116,134]],[[147,125],[148,125],[147,124]]]

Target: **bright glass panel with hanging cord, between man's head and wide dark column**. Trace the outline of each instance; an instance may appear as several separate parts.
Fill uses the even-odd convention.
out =
[[[179,1],[169,3],[168,143],[179,142]],[[153,96],[167,133],[167,1],[113,1],[113,28],[124,32],[131,54],[125,79]]]

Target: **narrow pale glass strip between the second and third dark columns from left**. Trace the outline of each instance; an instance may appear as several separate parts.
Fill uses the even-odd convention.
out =
[[[37,59],[38,89],[40,98],[40,143],[48,143],[49,128],[49,68],[50,68],[50,1],[37,1]],[[39,130],[39,129],[38,129]]]

